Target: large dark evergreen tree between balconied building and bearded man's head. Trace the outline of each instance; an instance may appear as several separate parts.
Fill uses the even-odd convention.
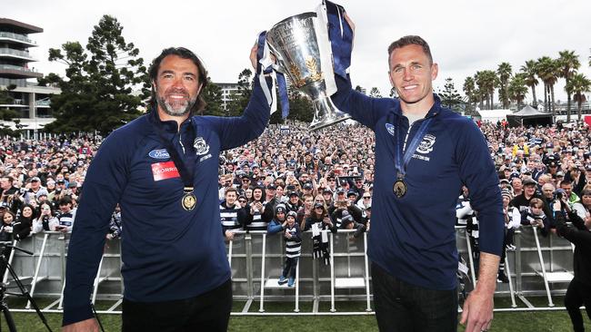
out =
[[[95,25],[88,44],[67,42],[49,50],[49,60],[65,63],[66,78],[49,74],[43,83],[62,90],[51,98],[55,122],[50,132],[108,133],[141,114],[138,108],[148,96],[144,59],[132,43],[125,43],[123,26],[113,16],[104,15]],[[62,52],[63,51],[63,52]],[[140,95],[132,89],[141,86]]]

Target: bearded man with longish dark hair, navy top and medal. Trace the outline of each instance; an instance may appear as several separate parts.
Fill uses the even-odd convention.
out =
[[[256,47],[254,66],[255,59]],[[85,178],[68,250],[64,331],[98,331],[90,292],[117,202],[125,225],[122,330],[227,329],[231,270],[219,201],[211,193],[217,192],[220,151],[259,136],[269,103],[255,80],[242,116],[192,116],[205,107],[207,75],[182,47],[165,49],[149,75],[151,112],[112,132]]]

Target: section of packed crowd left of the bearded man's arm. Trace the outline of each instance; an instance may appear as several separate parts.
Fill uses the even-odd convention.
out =
[[[71,231],[85,172],[99,142],[87,138],[0,141],[0,240]]]

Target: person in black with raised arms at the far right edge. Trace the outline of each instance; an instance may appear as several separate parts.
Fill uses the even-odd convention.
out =
[[[591,200],[591,190],[583,190],[586,200]],[[555,201],[554,210],[561,210],[561,202]],[[575,244],[575,278],[568,285],[565,307],[573,323],[575,332],[585,331],[580,307],[585,304],[587,317],[591,318],[591,216],[582,220],[575,212],[567,214],[574,227],[568,227],[563,213],[556,212],[556,230],[558,235]]]

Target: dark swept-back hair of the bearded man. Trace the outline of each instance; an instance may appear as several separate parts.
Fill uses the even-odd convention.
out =
[[[203,98],[203,93],[205,91],[205,86],[207,86],[207,71],[205,71],[205,66],[203,65],[203,63],[201,62],[199,57],[197,55],[195,55],[193,52],[187,50],[185,47],[165,48],[164,50],[162,50],[162,53],[160,55],[158,55],[152,61],[152,64],[150,64],[150,70],[148,72],[150,75],[150,83],[152,83],[152,93],[150,96],[150,106],[153,108],[156,107],[157,96],[156,96],[156,92],[155,92],[154,83],[156,82],[158,70],[160,69],[160,63],[162,63],[162,61],[168,55],[176,55],[176,56],[181,57],[183,59],[189,59],[189,60],[193,61],[193,63],[195,63],[195,65],[197,66],[197,73],[198,73],[197,81],[199,83],[201,83],[201,91],[197,95],[197,101],[195,103],[195,106],[193,106],[193,110],[191,110],[191,112],[197,112],[197,111],[201,111],[201,110],[205,109],[206,103],[205,103],[205,99]]]

